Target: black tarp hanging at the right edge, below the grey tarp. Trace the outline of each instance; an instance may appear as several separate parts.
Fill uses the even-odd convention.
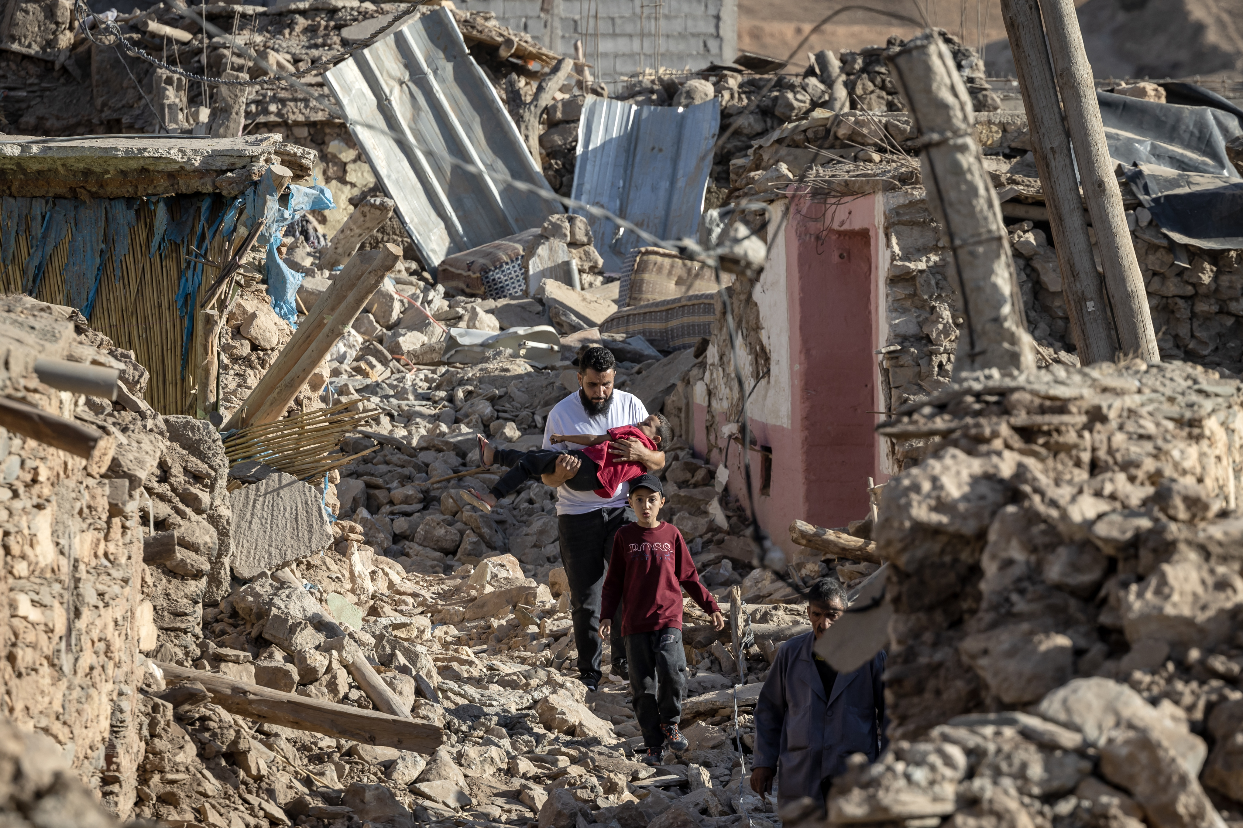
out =
[[[1137,164],[1126,169],[1126,182],[1173,241],[1202,250],[1243,248],[1243,180],[1237,173],[1227,178]]]

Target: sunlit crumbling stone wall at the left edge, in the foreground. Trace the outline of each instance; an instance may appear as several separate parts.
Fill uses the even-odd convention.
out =
[[[0,303],[6,330],[35,331],[70,359],[117,367],[140,401],[147,371],[68,308],[21,297]],[[2,713],[60,746],[103,804],[128,817],[142,757],[135,722],[138,647],[155,631],[143,566],[138,488],[132,470],[159,457],[159,416],[112,412],[55,391],[31,371],[34,351],[6,343],[4,394],[76,418],[116,441],[107,470],[46,443],[0,430],[0,693]],[[145,403],[142,403],[144,407]]]

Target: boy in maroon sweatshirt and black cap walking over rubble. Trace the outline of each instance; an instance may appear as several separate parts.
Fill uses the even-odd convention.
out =
[[[689,746],[677,730],[686,690],[682,588],[704,612],[712,613],[713,627],[725,628],[721,607],[700,583],[682,534],[656,519],[663,505],[665,493],[656,477],[630,480],[630,508],[638,521],[618,529],[600,596],[600,638],[609,637],[610,619],[622,605],[630,694],[648,765],[660,763],[666,744],[674,751]]]

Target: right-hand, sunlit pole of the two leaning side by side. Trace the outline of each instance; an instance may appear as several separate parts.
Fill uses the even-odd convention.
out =
[[[1161,361],[1152,330],[1149,294],[1135,258],[1131,231],[1126,226],[1122,195],[1114,176],[1114,161],[1105,143],[1105,124],[1096,103],[1091,66],[1084,51],[1083,34],[1071,0],[1043,0],[1049,52],[1058,77],[1058,89],[1070,127],[1070,142],[1079,164],[1079,181],[1096,230],[1101,269],[1114,312],[1114,326],[1122,353],[1149,362]]]

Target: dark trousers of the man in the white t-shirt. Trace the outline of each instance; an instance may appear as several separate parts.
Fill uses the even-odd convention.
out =
[[[599,684],[600,653],[600,590],[613,554],[613,535],[625,521],[626,509],[595,509],[580,515],[558,515],[561,530],[561,562],[569,581],[569,617],[574,624],[574,646],[578,647],[578,678],[584,684]],[[622,607],[613,618],[609,637],[613,660],[625,655],[622,641]]]

